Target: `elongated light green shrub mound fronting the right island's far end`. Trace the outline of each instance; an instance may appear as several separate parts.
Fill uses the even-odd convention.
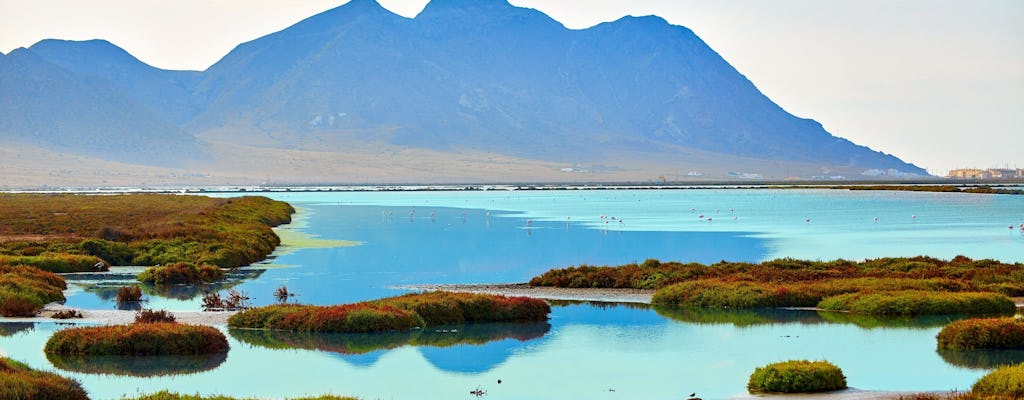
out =
[[[995,293],[924,291],[853,293],[821,300],[818,308],[869,315],[1013,314],[1014,302]]]

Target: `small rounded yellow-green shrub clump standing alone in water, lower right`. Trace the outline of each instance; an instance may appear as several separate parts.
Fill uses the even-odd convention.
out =
[[[751,393],[817,393],[846,389],[843,370],[828,361],[791,360],[758,367]]]

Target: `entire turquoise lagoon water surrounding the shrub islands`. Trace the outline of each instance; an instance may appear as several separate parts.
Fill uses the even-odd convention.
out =
[[[281,249],[212,287],[239,288],[256,305],[272,302],[282,284],[302,303],[337,304],[393,296],[406,284],[519,282],[555,267],[647,258],[711,263],[963,254],[1024,261],[1024,233],[1008,228],[1024,223],[1024,196],[804,189],[260,194],[299,208],[294,229],[360,245]],[[137,272],[70,276],[68,305],[113,308],[112,287]],[[151,290],[146,307],[198,310],[200,293]],[[934,337],[946,321],[814,312],[681,315],[575,304],[555,307],[550,325],[540,326],[369,338],[231,332],[226,359],[169,362],[182,366],[157,368],[152,373],[165,375],[148,377],[110,374],[117,368],[144,374],[150,367],[138,360],[115,360],[91,372],[82,369],[88,363],[47,360],[42,347],[58,328],[53,323],[5,324],[20,330],[0,336],[0,352],[35,367],[59,367],[101,399],[160,389],[472,398],[469,391],[477,387],[487,398],[507,399],[670,399],[691,392],[730,398],[744,395],[756,366],[793,358],[833,361],[862,390],[946,391],[969,388],[994,364],[1024,359],[939,354]]]

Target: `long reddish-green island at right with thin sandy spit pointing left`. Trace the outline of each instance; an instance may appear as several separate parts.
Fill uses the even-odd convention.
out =
[[[708,309],[817,308],[876,315],[1007,314],[1024,296],[1024,264],[931,257],[860,262],[643,263],[552,269],[529,283],[419,285],[566,300]],[[575,295],[574,295],[575,294]],[[573,299],[575,297],[575,299]],[[828,301],[825,301],[825,300]]]

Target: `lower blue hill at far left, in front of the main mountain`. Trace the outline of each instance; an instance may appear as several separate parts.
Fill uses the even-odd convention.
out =
[[[29,49],[0,58],[0,93],[6,143],[153,166],[202,158],[195,137],[109,81],[76,75]]]

